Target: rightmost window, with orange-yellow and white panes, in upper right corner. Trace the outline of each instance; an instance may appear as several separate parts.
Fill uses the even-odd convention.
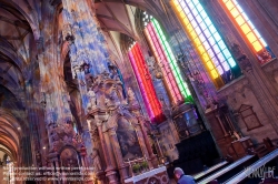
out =
[[[232,22],[237,25],[241,35],[249,43],[252,51],[257,54],[261,64],[275,58],[266,41],[254,27],[252,22],[245,13],[244,9],[241,9],[237,0],[220,0],[220,4],[224,7]]]

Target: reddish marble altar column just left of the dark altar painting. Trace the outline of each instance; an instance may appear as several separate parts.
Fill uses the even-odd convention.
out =
[[[121,183],[123,183],[125,180],[128,178],[128,176],[129,176],[128,175],[129,165],[127,165],[123,162],[121,150],[120,150],[120,144],[118,142],[118,137],[117,137],[115,129],[109,130],[109,136],[110,136],[110,141],[111,141],[111,144],[112,144],[112,147],[113,147],[113,154],[115,154],[115,157],[116,157],[116,161],[117,161],[117,164],[118,164],[118,168],[119,168],[119,172],[120,172]]]

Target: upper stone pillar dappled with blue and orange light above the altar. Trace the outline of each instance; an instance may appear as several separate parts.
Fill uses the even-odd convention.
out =
[[[92,75],[108,72],[107,43],[98,20],[92,16],[93,10],[87,0],[79,0],[78,6],[76,3],[75,0],[62,0],[63,38],[73,38],[75,41],[75,50],[70,51],[71,64],[75,67],[81,65],[82,62],[88,63]]]

